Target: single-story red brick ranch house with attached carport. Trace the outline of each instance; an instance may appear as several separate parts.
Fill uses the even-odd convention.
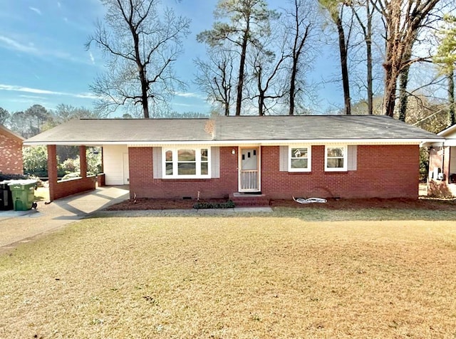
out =
[[[102,146],[105,183],[132,198],[291,199],[418,198],[420,143],[440,140],[386,116],[307,115],[71,120],[24,143],[48,145],[51,199],[68,193],[53,185],[56,145],[79,145],[82,159]]]

